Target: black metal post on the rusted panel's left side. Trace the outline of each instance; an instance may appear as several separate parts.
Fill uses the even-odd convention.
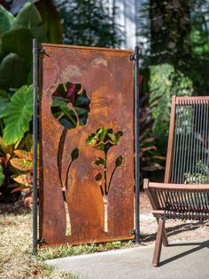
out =
[[[38,142],[38,40],[33,39],[33,84],[34,84],[34,106],[33,106],[33,254],[37,255],[38,245],[38,216],[37,216],[37,142]]]

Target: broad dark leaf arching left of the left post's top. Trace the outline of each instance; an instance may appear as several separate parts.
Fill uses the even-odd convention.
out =
[[[17,53],[27,65],[32,63],[33,34],[27,28],[17,27],[5,33],[2,37],[2,54]]]

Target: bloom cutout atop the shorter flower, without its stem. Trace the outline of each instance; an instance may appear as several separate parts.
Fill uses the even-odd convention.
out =
[[[86,142],[89,146],[95,147],[107,153],[111,147],[118,145],[122,135],[123,132],[121,131],[113,133],[112,129],[100,128],[97,132],[89,135]]]

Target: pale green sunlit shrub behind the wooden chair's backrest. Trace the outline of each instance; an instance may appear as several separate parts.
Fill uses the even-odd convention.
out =
[[[175,70],[172,65],[162,64],[150,67],[149,87],[150,103],[160,97],[158,104],[152,108],[155,120],[152,132],[157,136],[160,154],[166,155],[172,96],[190,96],[193,93],[193,84],[189,77]]]

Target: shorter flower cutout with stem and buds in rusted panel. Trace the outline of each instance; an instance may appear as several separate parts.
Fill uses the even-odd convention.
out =
[[[112,186],[112,178],[114,176],[115,171],[118,167],[123,163],[123,156],[119,155],[115,160],[115,166],[112,170],[109,181],[107,181],[107,164],[108,164],[108,151],[111,147],[117,146],[120,142],[120,138],[122,137],[123,132],[113,132],[112,129],[99,128],[97,132],[89,135],[86,142],[90,147],[94,147],[98,150],[103,151],[104,156],[98,157],[94,164],[97,167],[97,173],[95,175],[95,179],[97,181],[97,185],[100,188],[101,195],[103,196],[104,203],[104,232],[108,232],[108,203],[107,197]],[[101,170],[101,166],[103,171]],[[98,168],[99,167],[99,168]],[[99,169],[99,170],[98,170]]]

